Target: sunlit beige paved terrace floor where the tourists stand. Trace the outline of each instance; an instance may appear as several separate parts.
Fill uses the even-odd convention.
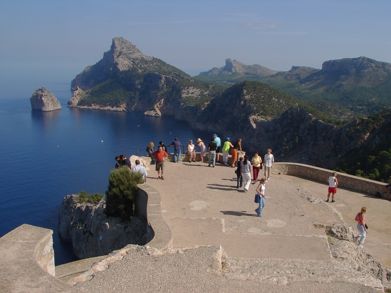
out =
[[[37,286],[23,291],[25,282],[14,282],[7,276],[3,279],[5,283],[0,282],[0,289],[16,288],[10,292],[377,292],[363,284],[379,288],[378,282],[331,259],[327,236],[319,228],[343,221],[355,228],[354,216],[362,206],[368,208],[369,225],[364,251],[383,265],[391,266],[389,201],[344,188],[338,188],[335,203],[316,200],[326,199],[326,182],[278,175],[277,163],[275,174],[266,184],[266,206],[260,218],[254,211],[258,206],[254,203],[257,186],[250,185],[249,192],[237,189],[235,168],[222,164],[212,168],[200,162],[167,163],[165,180],[159,180],[154,166],[151,167],[145,188],[151,186],[159,191],[161,206],[159,203],[151,206],[164,219],[161,223],[151,223],[152,228],[168,225],[172,231],[172,238],[171,234],[166,237],[169,239],[166,244],[153,239],[151,245],[214,247],[183,253],[177,250],[181,253],[160,257],[132,249],[122,260],[110,264],[109,269],[97,273],[91,281],[77,284],[76,288],[66,289],[54,283],[49,288]],[[339,181],[343,186],[342,177]],[[221,251],[216,245],[221,245],[228,256],[228,268],[222,276],[208,272],[211,257]],[[0,270],[5,275],[3,268],[11,264],[4,257],[9,249],[0,247],[3,255]],[[61,274],[60,267],[56,267],[57,276]],[[28,272],[24,273],[29,276]]]

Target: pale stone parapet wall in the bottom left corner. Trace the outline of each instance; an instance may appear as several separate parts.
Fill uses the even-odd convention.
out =
[[[0,238],[0,292],[80,292],[54,277],[52,234],[23,224]]]

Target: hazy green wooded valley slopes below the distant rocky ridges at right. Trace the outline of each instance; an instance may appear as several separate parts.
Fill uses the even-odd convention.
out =
[[[374,114],[391,105],[391,72],[381,72],[378,75],[376,70],[324,73],[314,68],[297,67],[272,76],[233,73],[198,75],[195,78],[225,86],[243,80],[259,81],[329,113],[336,119],[350,120]]]

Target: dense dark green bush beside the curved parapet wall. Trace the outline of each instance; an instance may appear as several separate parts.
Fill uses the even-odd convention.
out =
[[[132,172],[128,167],[111,170],[106,191],[105,213],[110,217],[129,220],[134,212],[137,184],[140,183],[143,183],[141,173]]]

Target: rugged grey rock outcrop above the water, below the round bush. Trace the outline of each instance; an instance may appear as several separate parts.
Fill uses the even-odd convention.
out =
[[[77,194],[67,195],[59,210],[60,237],[72,242],[77,257],[105,255],[128,244],[146,244],[146,221],[108,217],[104,213],[104,199],[93,205],[79,203],[78,198]]]

